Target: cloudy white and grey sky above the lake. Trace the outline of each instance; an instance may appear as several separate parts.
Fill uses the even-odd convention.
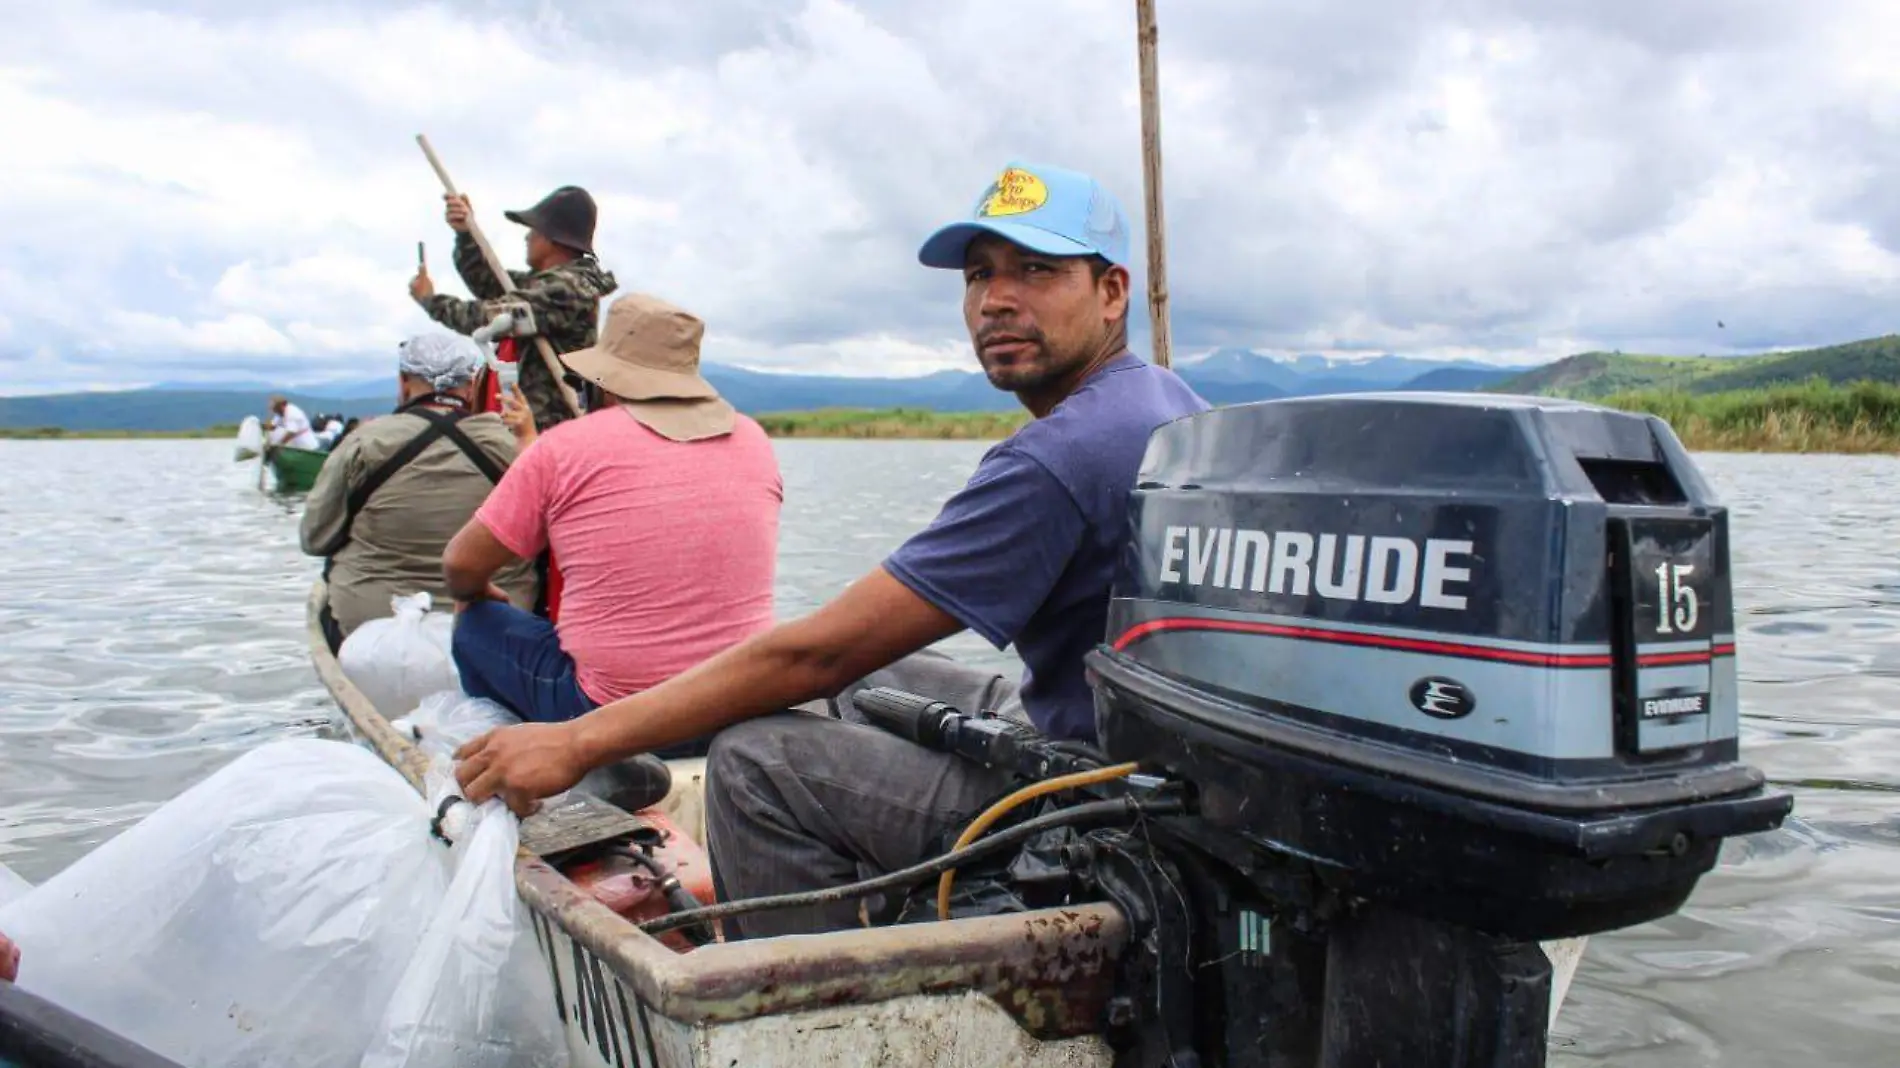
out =
[[[416,133],[511,266],[593,190],[709,359],[969,365],[916,245],[1013,158],[1140,226],[1132,8],[0,0],[0,391],[388,371],[418,239],[460,293]],[[1892,0],[1161,0],[1176,355],[1890,333],[1896,55]]]

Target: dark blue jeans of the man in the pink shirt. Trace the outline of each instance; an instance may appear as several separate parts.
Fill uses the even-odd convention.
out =
[[[547,620],[477,601],[456,616],[450,650],[462,673],[462,692],[486,697],[530,722],[564,722],[595,711],[576,678],[574,658]],[[705,756],[711,737],[656,749],[661,760]]]

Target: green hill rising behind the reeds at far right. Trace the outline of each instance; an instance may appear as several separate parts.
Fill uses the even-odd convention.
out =
[[[1630,391],[1729,393],[1816,378],[1834,386],[1900,382],[1900,336],[1731,357],[1585,352],[1507,378],[1492,390],[1600,401]]]

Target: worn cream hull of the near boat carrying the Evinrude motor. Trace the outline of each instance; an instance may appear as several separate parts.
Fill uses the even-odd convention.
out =
[[[426,760],[350,682],[323,639],[319,580],[310,658],[363,745],[420,789]],[[515,887],[557,994],[576,1068],[910,1064],[1110,1068],[1100,1020],[1129,924],[1112,905],[682,946],[612,905],[600,838],[665,827],[705,840],[703,760],[671,760],[671,792],[621,811],[597,798],[522,821]],[[578,794],[570,792],[568,798]],[[684,876],[682,876],[684,878]],[[1545,943],[1550,1017],[1583,939]]]

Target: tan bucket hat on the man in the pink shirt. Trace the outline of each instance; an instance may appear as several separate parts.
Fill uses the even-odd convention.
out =
[[[568,371],[614,393],[646,428],[673,441],[732,433],[732,405],[699,374],[707,325],[684,308],[629,293],[606,310],[593,348],[560,357]]]

